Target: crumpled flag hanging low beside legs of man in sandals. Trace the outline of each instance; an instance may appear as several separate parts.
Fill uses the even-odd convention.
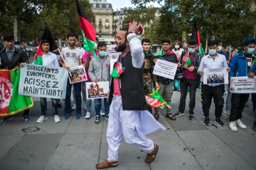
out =
[[[167,108],[171,108],[166,101],[162,98],[162,96],[158,93],[158,90],[154,91],[153,93],[149,95],[145,95],[146,102],[152,107],[152,108],[158,108],[159,106],[166,106]]]

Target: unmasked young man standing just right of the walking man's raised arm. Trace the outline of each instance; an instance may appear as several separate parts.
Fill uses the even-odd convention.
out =
[[[153,81],[152,81],[152,72],[153,72],[153,59],[154,55],[150,51],[150,40],[148,38],[144,38],[141,41],[142,47],[143,47],[143,52],[144,52],[144,70],[143,70],[143,83],[144,83],[144,90],[145,94],[151,94],[153,92]],[[156,84],[156,88],[159,88],[157,79],[155,78],[154,80]],[[152,114],[152,107],[147,104],[147,109],[148,111]]]

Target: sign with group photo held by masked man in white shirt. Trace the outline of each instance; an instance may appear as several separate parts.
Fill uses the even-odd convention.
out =
[[[204,68],[204,84],[228,84],[227,68]]]

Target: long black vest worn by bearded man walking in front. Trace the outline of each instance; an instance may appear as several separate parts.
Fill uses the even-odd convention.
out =
[[[119,77],[120,92],[123,110],[146,110],[146,99],[143,84],[143,68],[132,66],[132,55],[128,52],[124,58],[121,55],[118,61],[124,67],[124,73]],[[108,105],[111,104],[114,94],[114,78],[112,78]]]

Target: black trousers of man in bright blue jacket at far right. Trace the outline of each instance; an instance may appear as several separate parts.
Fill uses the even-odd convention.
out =
[[[234,122],[235,120],[242,118],[242,112],[244,105],[248,102],[250,94],[236,94],[232,93],[231,97],[231,109],[229,121]]]

